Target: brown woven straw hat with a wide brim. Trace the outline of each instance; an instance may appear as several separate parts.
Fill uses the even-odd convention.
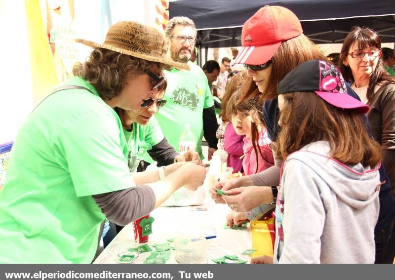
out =
[[[190,69],[188,64],[175,62],[166,55],[167,43],[158,30],[133,21],[114,24],[102,44],[83,39],[76,41],[91,47],[110,49],[148,61],[160,62],[178,69]]]

